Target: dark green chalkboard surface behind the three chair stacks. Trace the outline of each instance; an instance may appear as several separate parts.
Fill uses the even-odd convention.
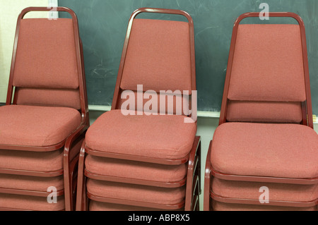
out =
[[[59,0],[78,16],[83,41],[88,102],[110,106],[116,83],[126,28],[136,8],[175,8],[194,20],[198,110],[220,111],[232,26],[238,16],[269,11],[297,13],[307,34],[312,108],[318,114],[318,1],[317,0]],[[66,17],[60,13],[60,17]],[[158,15],[161,18],[163,15]],[[169,17],[165,17],[169,19]],[[261,20],[259,20],[261,21]],[[280,23],[279,18],[270,22]]]

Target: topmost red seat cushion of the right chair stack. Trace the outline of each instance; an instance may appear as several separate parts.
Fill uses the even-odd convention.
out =
[[[211,164],[223,174],[318,177],[318,135],[307,126],[223,123],[211,145]]]

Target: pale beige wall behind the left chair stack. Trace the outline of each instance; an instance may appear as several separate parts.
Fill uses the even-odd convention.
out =
[[[29,6],[45,6],[48,0],[0,0],[0,102],[6,102],[16,20]],[[47,12],[28,13],[25,18],[47,17]]]

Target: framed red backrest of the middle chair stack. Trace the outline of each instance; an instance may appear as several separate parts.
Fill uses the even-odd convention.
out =
[[[135,18],[142,12],[179,14],[185,16],[188,22]],[[153,91],[158,94],[170,90],[167,96],[172,94],[174,103],[189,99],[184,98],[184,91],[191,95],[192,90],[196,90],[194,26],[189,14],[179,10],[150,8],[140,8],[132,14],[112,109],[121,108],[126,100],[121,98],[125,90],[131,90],[137,97],[137,85],[142,85],[143,93]],[[160,100],[157,102],[159,104]],[[175,105],[172,110],[166,110],[167,113],[172,111],[175,113]]]

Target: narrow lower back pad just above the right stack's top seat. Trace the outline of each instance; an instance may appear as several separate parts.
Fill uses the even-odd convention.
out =
[[[230,122],[300,123],[300,102],[229,101],[226,114]]]

